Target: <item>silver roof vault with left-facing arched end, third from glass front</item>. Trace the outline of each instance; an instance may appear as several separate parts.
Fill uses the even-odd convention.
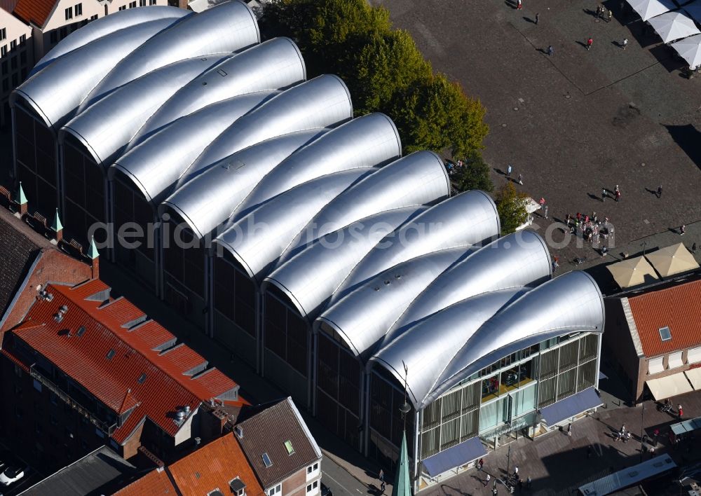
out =
[[[424,210],[421,206],[388,210],[329,233],[275,268],[261,289],[274,284],[299,315],[311,320],[379,240]]]

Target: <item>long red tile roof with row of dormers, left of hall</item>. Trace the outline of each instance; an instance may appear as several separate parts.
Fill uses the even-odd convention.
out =
[[[113,307],[114,303],[104,305],[102,301],[86,299],[101,291],[107,294],[108,289],[100,280],[74,288],[49,284],[46,291],[53,294],[53,300],[38,299],[25,322],[12,333],[115,413],[136,407],[112,434],[115,441],[126,441],[146,417],[175,436],[180,428],[173,420],[177,408],[189,406],[194,412],[201,402],[226,398],[226,393],[236,388],[233,380],[215,368],[193,377],[184,376],[184,366],[159,356],[159,350],[153,349],[154,343],[175,343],[175,336],[158,324],[125,329],[125,322],[120,319],[142,315],[128,301],[120,300]],[[68,310],[62,322],[56,322],[55,315],[62,305]],[[81,326],[85,331],[78,336]],[[142,337],[144,329],[147,332]],[[187,355],[186,366],[205,361],[191,350]]]

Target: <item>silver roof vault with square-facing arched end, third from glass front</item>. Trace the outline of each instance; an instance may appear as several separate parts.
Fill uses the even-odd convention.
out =
[[[381,240],[346,277],[332,302],[397,263],[442,249],[490,242],[499,230],[494,200],[483,191],[449,198]]]

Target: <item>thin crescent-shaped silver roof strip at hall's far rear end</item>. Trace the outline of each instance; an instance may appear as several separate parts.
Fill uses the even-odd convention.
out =
[[[46,55],[41,57],[39,62],[36,62],[34,69],[29,72],[29,76],[31,77],[34,75],[34,73],[40,71],[43,69],[43,67],[46,67],[58,57],[86,46],[88,43],[104,36],[110,36],[120,29],[125,29],[154,20],[171,19],[172,22],[175,22],[178,19],[186,17],[187,15],[193,15],[193,13],[182,8],[168,6],[128,8],[124,11],[118,11],[111,15],[105,15],[102,18],[90,21],[88,25],[81,27],[81,29],[72,32],[67,37],[59,41],[54,48],[49,50]]]

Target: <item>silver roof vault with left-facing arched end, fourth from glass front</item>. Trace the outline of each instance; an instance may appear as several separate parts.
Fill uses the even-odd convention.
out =
[[[346,170],[308,181],[279,195],[227,228],[215,243],[239,261],[258,284],[287,244],[327,202],[373,167]]]

